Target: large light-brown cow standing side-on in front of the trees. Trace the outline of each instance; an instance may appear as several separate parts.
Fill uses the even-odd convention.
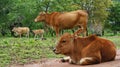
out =
[[[40,12],[35,18],[35,22],[43,21],[47,25],[51,26],[56,36],[59,35],[62,29],[71,29],[73,27],[81,27],[83,29],[84,36],[86,36],[86,27],[88,21],[88,14],[84,10],[76,10],[72,12],[53,12],[51,14]]]

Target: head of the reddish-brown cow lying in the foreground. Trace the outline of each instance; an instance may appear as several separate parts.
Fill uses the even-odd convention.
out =
[[[74,47],[73,35],[65,33],[61,36],[56,47],[53,49],[56,54],[69,55]]]

